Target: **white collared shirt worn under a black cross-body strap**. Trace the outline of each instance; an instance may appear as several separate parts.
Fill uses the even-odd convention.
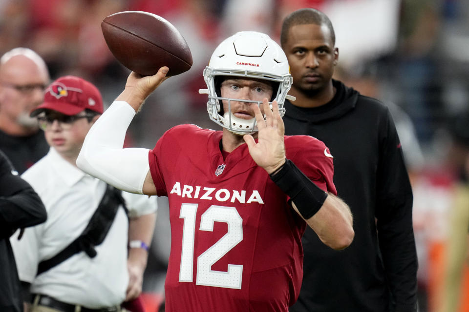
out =
[[[128,285],[128,218],[120,208],[97,255],[75,254],[36,276],[39,262],[63,250],[85,229],[106,190],[106,183],[85,174],[53,148],[22,176],[39,194],[47,221],[27,228],[21,240],[11,236],[20,280],[31,283],[32,293],[100,308],[120,304]],[[123,192],[129,216],[156,211],[156,198]]]

